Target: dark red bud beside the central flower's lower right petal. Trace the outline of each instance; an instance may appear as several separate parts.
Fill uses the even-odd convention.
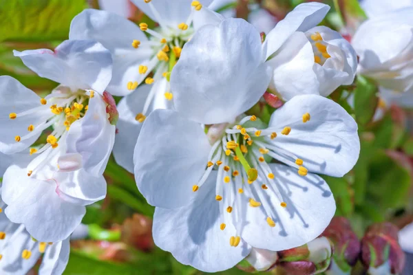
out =
[[[327,273],[350,272],[359,258],[360,242],[357,235],[352,231],[348,219],[334,217],[321,235],[326,236],[334,247],[335,257]]]

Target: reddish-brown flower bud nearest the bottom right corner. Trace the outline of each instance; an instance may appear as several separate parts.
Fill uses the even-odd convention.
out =
[[[399,246],[399,230],[392,223],[370,225],[361,239],[361,262],[369,274],[400,274],[405,254]]]

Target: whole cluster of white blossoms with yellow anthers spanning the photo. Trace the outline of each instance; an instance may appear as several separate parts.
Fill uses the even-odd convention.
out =
[[[155,28],[87,9],[54,50],[14,51],[59,83],[49,94],[0,76],[1,274],[41,254],[41,275],[63,273],[112,153],[156,207],[153,241],[184,265],[219,272],[306,245],[336,210],[320,175],[343,177],[360,153],[357,123],[330,94],[359,74],[384,101],[413,98],[413,8],[369,19],[350,43],[319,25],[323,3],[267,33],[216,0],[134,3]]]

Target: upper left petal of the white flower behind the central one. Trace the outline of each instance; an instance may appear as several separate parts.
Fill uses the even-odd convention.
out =
[[[134,40],[147,41],[136,24],[103,10],[87,9],[76,15],[70,25],[69,37],[98,41],[112,53],[113,74],[107,91],[116,96],[130,94],[127,83],[138,78],[139,65],[153,55],[149,47],[132,47]]]

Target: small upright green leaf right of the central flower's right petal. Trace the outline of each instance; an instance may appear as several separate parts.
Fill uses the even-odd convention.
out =
[[[354,89],[354,112],[356,120],[361,125],[370,122],[376,112],[379,98],[377,87],[362,76],[357,77],[357,87]]]

